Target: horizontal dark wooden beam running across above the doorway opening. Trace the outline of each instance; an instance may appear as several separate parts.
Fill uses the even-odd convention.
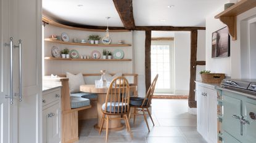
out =
[[[191,30],[205,30],[205,27],[174,27],[174,26],[136,26],[135,30],[142,31],[191,31]]]

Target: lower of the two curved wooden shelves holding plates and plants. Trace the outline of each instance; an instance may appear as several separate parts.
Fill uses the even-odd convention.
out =
[[[131,59],[81,59],[81,58],[54,58],[44,57],[44,60],[60,60],[60,61],[131,61]]]

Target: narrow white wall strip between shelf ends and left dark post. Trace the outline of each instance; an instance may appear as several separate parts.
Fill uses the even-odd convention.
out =
[[[133,31],[134,73],[138,74],[138,95],[145,96],[145,31]]]

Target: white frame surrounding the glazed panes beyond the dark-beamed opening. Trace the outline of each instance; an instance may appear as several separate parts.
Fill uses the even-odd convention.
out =
[[[174,41],[151,41],[151,45],[169,45],[170,57],[170,88],[155,88],[155,93],[174,93],[175,71],[174,71]],[[151,79],[153,80],[153,79]]]

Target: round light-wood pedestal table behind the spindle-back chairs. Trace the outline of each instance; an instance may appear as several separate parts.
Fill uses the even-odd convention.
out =
[[[105,103],[105,97],[107,95],[107,87],[103,88],[96,88],[95,85],[81,85],[80,91],[87,92],[87,93],[97,93],[97,124],[94,125],[94,128],[99,129],[99,125],[101,125],[101,117],[102,117],[102,104]],[[137,86],[130,85],[130,91],[137,90]],[[120,115],[114,115],[112,117],[120,117]],[[105,129],[105,123],[103,126],[103,129]],[[109,121],[109,129],[112,130],[120,130],[123,129],[123,124],[121,123],[121,120],[110,120]]]

